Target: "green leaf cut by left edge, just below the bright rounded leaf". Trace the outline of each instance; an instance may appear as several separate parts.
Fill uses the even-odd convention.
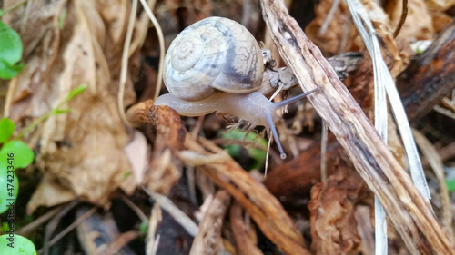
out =
[[[0,187],[2,187],[0,189],[0,213],[4,213],[9,210],[8,205],[17,199],[19,179],[15,172],[6,172],[5,169],[1,169],[0,172]]]

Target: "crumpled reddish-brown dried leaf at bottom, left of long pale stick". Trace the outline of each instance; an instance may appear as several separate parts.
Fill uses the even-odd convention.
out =
[[[360,238],[355,219],[356,204],[366,185],[359,174],[340,165],[325,183],[311,190],[311,251],[314,254],[357,254]]]

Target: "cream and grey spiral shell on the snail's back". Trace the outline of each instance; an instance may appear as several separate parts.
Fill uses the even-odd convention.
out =
[[[256,91],[263,72],[254,36],[235,21],[209,17],[188,26],[169,46],[164,82],[177,98],[198,101],[217,90]]]

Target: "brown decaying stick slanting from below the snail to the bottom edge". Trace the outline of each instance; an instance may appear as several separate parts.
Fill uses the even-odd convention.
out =
[[[205,148],[197,142],[187,139],[187,149],[193,152],[191,158],[182,158],[186,164],[193,164],[194,158],[226,153],[214,143],[199,138]],[[207,153],[207,150],[215,152]],[[248,212],[253,221],[264,235],[287,254],[310,254],[305,242],[294,222],[283,209],[279,201],[259,185],[243,170],[237,162],[231,160],[219,161],[221,157],[212,157],[213,162],[197,165],[197,170],[206,174],[219,187],[233,196]],[[197,159],[197,162],[205,162]]]

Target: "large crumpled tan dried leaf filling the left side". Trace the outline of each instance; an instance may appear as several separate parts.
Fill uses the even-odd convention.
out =
[[[12,119],[18,122],[42,115],[77,85],[86,83],[88,88],[64,106],[71,108],[71,113],[50,117],[31,138],[32,142],[39,139],[35,162],[44,178],[29,201],[29,213],[40,205],[73,199],[104,205],[118,187],[126,192],[136,188],[134,176],[127,175],[130,165],[124,147],[128,136],[116,107],[117,83],[112,82],[118,69],[112,69],[106,58],[106,49],[109,54],[121,55],[123,41],[106,39],[109,25],[96,3],[90,1],[66,5],[65,29],[60,30],[57,21],[66,2],[58,3],[61,5],[32,9],[30,14],[33,17],[43,9],[55,8],[42,41],[36,46],[25,45],[35,50],[25,72],[12,81],[8,106]],[[97,3],[98,8],[105,7]],[[117,15],[126,14],[128,5],[123,3],[109,5],[117,9]],[[121,19],[118,16],[116,21]],[[132,90],[129,87],[126,91]]]

